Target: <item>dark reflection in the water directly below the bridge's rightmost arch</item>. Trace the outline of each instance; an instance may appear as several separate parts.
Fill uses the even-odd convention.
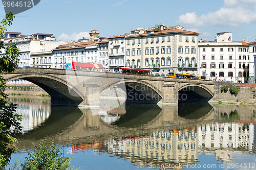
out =
[[[178,116],[186,119],[198,119],[205,117],[213,107],[209,103],[179,103]]]

